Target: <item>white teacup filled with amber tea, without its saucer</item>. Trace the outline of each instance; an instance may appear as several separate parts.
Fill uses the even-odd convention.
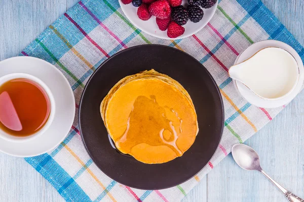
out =
[[[54,114],[54,97],[42,80],[25,73],[0,78],[0,138],[35,138],[48,129]]]

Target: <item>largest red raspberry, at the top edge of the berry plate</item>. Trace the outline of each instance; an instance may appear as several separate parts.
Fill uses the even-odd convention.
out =
[[[165,19],[170,17],[171,7],[166,0],[158,0],[149,6],[149,12],[157,18]]]

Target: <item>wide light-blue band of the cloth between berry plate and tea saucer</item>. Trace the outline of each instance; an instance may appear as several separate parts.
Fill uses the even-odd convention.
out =
[[[115,9],[120,8],[118,1],[116,1],[116,2],[110,1],[110,3]],[[83,4],[86,5],[88,8],[90,8],[90,10],[97,16],[97,18],[101,22],[113,14],[113,11],[110,8],[108,8],[102,1],[85,0],[85,1],[83,1]],[[100,10],[102,10],[102,12],[100,12]],[[93,20],[91,20],[92,17],[86,11],[84,11],[83,8],[79,4],[75,5],[71,9],[69,9],[67,13],[71,16],[71,18],[73,20],[75,20],[77,23],[79,23],[80,26],[87,33],[89,33],[90,31],[92,31],[94,28],[96,28],[98,26],[98,23],[95,21],[93,22]],[[77,15],[74,15],[74,13],[77,13]],[[84,20],[84,18],[87,20]],[[91,22],[91,23],[82,23],[82,22]],[[72,26],[60,26],[61,24],[67,24],[67,25],[72,25]],[[58,18],[53,23],[53,26],[56,27],[56,29],[73,46],[84,38],[84,35],[79,31],[79,29],[77,27],[75,27],[65,16],[61,16],[60,18]],[[40,36],[38,36],[37,39],[39,39],[40,41],[45,43],[45,42],[47,42],[47,41],[45,41],[45,39],[47,39],[49,41],[50,34],[54,34],[54,33],[50,28],[48,28]],[[54,37],[54,39],[55,39],[55,37]],[[57,59],[60,59],[69,50],[69,48],[67,48],[66,45],[62,45],[63,42],[62,41],[60,42],[60,40],[61,39],[58,38],[54,41],[47,42],[48,44],[52,44],[52,45],[48,46],[48,48],[54,54],[54,56],[56,56]],[[37,48],[42,48],[42,47],[38,47],[38,45],[39,44],[36,41],[33,41],[24,49],[24,52],[26,52],[29,56],[40,58],[45,61],[48,61],[51,64],[55,64],[55,62],[52,60],[52,58],[50,56],[48,56],[47,53],[44,53],[43,55],[41,55],[43,52],[37,50]],[[58,48],[58,47],[60,47],[60,48]],[[62,47],[64,47],[64,48],[62,48]],[[32,52],[33,50],[35,50],[34,53]]]

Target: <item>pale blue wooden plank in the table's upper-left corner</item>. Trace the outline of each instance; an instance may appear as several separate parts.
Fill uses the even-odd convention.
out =
[[[17,56],[66,11],[66,0],[0,0],[0,60]]]

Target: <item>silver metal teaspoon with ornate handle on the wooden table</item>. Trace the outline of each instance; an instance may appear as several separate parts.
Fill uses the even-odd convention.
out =
[[[232,156],[236,163],[245,170],[257,170],[267,177],[274,185],[284,193],[286,198],[291,202],[304,202],[303,199],[291,193],[285,189],[281,184],[272,179],[267,173],[265,173],[259,163],[259,157],[253,148],[246,144],[235,144],[232,147]]]

